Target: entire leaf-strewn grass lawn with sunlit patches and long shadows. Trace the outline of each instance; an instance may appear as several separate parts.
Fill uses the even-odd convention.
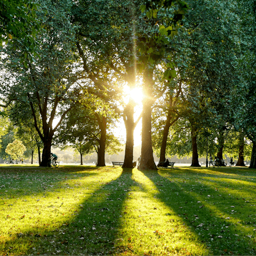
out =
[[[0,255],[256,255],[238,167],[0,166]]]

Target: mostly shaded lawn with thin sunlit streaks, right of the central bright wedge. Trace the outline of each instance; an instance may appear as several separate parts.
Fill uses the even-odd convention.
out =
[[[184,218],[213,255],[255,254],[254,172],[228,175],[225,170],[214,174],[196,170],[186,175],[165,171],[160,174],[170,180],[170,190],[179,191],[182,209],[186,209],[183,205],[190,206]],[[250,183],[244,181],[248,179],[246,174],[250,174]]]

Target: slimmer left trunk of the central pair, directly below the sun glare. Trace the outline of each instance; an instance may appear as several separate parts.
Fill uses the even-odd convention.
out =
[[[133,168],[134,146],[134,101],[130,98],[124,110],[124,124],[126,129],[126,144],[123,168]]]

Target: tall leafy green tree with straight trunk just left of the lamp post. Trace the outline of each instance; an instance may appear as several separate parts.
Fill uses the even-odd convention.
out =
[[[172,54],[172,61],[177,71],[174,82],[181,85],[181,93],[178,95],[180,101],[182,100],[180,109],[172,109],[175,111],[172,120],[175,121],[175,113],[188,118],[190,125],[187,127],[191,127],[191,140],[187,138],[186,148],[188,144],[191,145],[194,155],[192,165],[199,166],[197,151],[202,152],[202,150],[198,148],[197,140],[200,139],[202,142],[202,134],[207,130],[218,134],[220,127],[225,126],[229,121],[230,91],[239,81],[236,58],[239,53],[237,14],[234,12],[236,2],[223,4],[215,1],[187,1],[187,3],[191,8],[182,20],[186,30],[180,30],[170,44],[170,47],[176,50]],[[202,17],[200,13],[204,13],[204,16]],[[226,31],[233,32],[226,33]],[[170,86],[173,93],[179,92],[177,85]],[[166,103],[166,109],[167,106]],[[166,123],[165,126],[161,123],[161,132],[164,131],[164,127],[170,127],[169,116],[170,114],[166,113]],[[158,139],[162,138],[158,137]],[[193,143],[190,144],[189,141]],[[206,147],[203,148],[206,151]],[[221,148],[223,149],[223,143]],[[221,151],[219,154],[222,158]],[[164,161],[165,156],[162,155],[161,159]]]

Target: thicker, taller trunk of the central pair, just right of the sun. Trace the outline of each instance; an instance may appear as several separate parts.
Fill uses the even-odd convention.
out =
[[[153,157],[152,139],[151,139],[151,113],[153,106],[153,69],[146,71],[142,110],[142,141],[141,141],[141,161],[139,170],[157,170]]]

